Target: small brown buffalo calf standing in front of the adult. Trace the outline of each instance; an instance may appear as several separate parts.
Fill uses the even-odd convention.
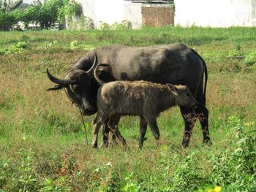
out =
[[[93,123],[92,147],[97,147],[99,128],[108,118],[111,131],[116,134],[123,145],[126,145],[117,127],[121,115],[140,116],[139,146],[142,147],[147,123],[155,139],[159,140],[157,117],[160,112],[176,105],[194,108],[197,104],[189,88],[184,85],[162,85],[146,81],[105,83],[97,93],[98,112]]]

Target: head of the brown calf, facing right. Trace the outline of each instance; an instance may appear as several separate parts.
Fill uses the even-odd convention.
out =
[[[192,93],[190,92],[189,88],[185,85],[173,85],[173,88],[176,93],[176,102],[178,106],[182,107],[192,107],[196,108],[198,105],[197,100]]]

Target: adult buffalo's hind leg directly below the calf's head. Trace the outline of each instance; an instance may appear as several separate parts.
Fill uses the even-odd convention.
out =
[[[192,134],[192,128],[195,126],[195,112],[193,112],[192,109],[189,109],[187,107],[180,107],[182,117],[184,118],[185,123],[185,130],[184,130],[184,137],[182,141],[183,147],[189,146],[190,137]]]

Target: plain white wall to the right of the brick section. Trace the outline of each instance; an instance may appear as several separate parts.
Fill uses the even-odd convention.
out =
[[[255,26],[255,0],[176,0],[176,26]]]

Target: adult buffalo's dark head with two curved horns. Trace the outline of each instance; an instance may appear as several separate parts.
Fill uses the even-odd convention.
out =
[[[72,104],[80,107],[83,115],[93,115],[97,112],[96,93],[97,90],[93,90],[93,70],[96,65],[96,58],[94,58],[94,64],[87,72],[82,69],[70,69],[64,79],[54,77],[47,69],[48,78],[50,81],[57,85],[53,88],[49,88],[47,91],[54,91],[64,88],[67,96]]]

